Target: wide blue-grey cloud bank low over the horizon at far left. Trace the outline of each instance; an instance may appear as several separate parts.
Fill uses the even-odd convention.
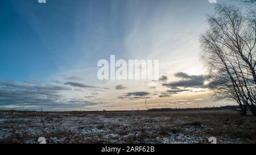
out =
[[[22,85],[11,81],[0,81],[0,107],[19,110],[72,110],[101,104],[84,98],[68,97],[71,87],[64,85]]]

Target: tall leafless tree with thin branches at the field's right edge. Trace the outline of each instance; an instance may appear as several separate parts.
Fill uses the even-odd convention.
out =
[[[256,115],[255,12],[242,14],[233,5],[216,5],[215,11],[207,15],[209,30],[200,39],[214,97],[234,100],[243,115],[247,107]]]

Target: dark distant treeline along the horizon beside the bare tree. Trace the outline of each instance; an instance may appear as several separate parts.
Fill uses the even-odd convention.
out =
[[[188,111],[188,110],[236,110],[239,106],[203,107],[203,108],[151,108],[148,111]]]

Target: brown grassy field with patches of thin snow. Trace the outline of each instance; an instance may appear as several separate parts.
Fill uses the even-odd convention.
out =
[[[232,110],[0,111],[0,143],[256,143],[256,118]]]

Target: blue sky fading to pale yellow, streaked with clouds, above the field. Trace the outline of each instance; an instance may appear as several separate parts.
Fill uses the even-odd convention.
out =
[[[217,1],[223,2],[223,1]],[[138,110],[214,101],[200,34],[208,0],[1,1],[0,108]],[[159,81],[100,80],[101,59],[159,60]]]

